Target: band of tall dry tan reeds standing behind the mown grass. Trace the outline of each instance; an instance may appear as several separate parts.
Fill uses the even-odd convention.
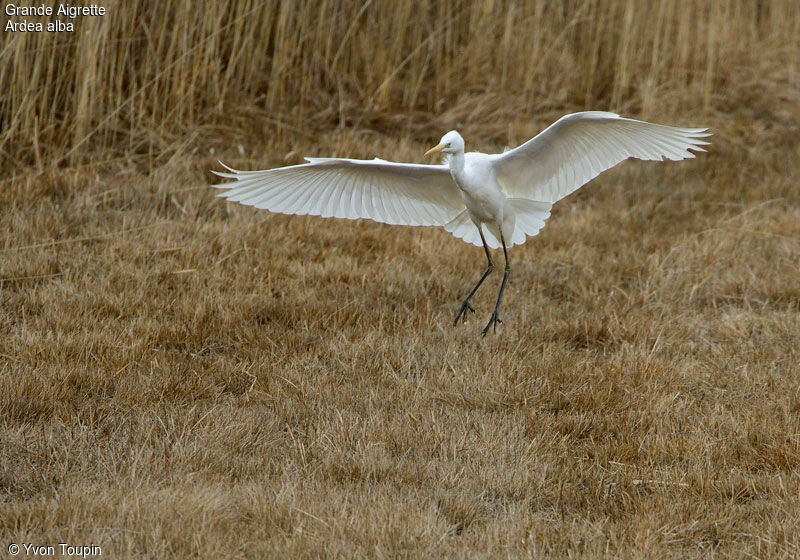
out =
[[[800,79],[796,2],[107,8],[73,34],[4,33],[6,165],[103,150],[158,165],[204,127],[244,123],[283,147],[342,129],[433,137],[432,115],[496,141],[588,106],[707,122]]]

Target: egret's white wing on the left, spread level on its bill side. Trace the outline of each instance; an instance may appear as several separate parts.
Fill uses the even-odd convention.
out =
[[[220,196],[281,214],[366,218],[385,224],[441,226],[464,210],[458,187],[444,165],[379,159],[306,158],[308,163],[216,175],[235,183]],[[223,164],[224,165],[224,164]]]

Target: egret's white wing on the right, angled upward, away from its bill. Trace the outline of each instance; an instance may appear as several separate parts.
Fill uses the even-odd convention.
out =
[[[675,128],[586,111],[561,117],[535,138],[493,156],[509,197],[556,202],[619,162],[635,157],[673,161],[705,151],[706,128]]]

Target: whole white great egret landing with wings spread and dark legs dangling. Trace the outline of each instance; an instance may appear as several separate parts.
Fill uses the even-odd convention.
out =
[[[483,329],[497,331],[498,312],[511,267],[508,248],[539,233],[553,204],[591,179],[635,157],[677,161],[705,151],[706,128],[674,128],[586,111],[561,117],[535,138],[502,154],[464,153],[452,130],[425,155],[446,154],[443,165],[340,158],[306,158],[308,163],[238,171],[220,177],[235,183],[230,201],[282,214],[323,218],[366,218],[386,224],[443,226],[486,252],[488,266],[461,304],[454,325],[474,312],[470,299],[494,269],[489,248],[503,248],[505,273],[494,311]],[[222,163],[222,162],[220,162]]]

